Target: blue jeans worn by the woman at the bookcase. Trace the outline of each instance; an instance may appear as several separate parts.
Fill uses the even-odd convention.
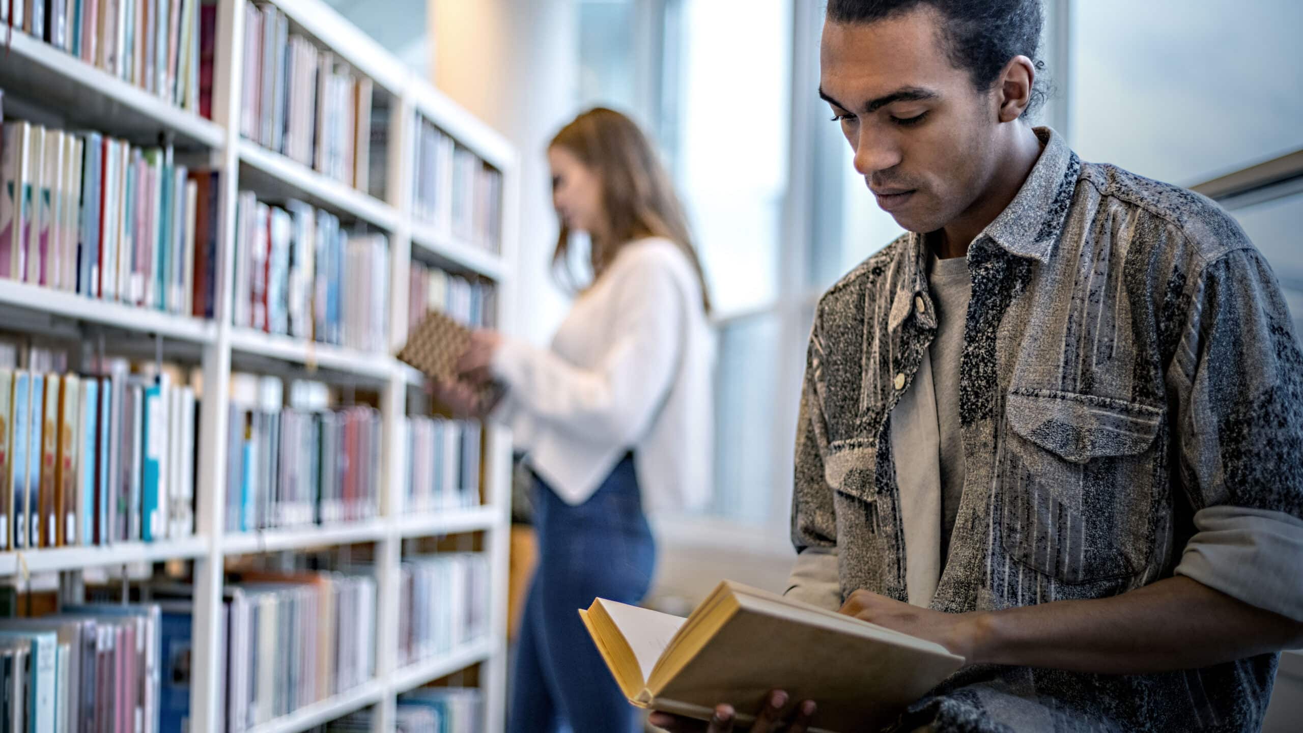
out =
[[[594,597],[636,604],[652,584],[655,543],[642,514],[633,455],[580,506],[534,477],[538,569],[511,670],[511,733],[632,733],[629,704],[579,609]]]

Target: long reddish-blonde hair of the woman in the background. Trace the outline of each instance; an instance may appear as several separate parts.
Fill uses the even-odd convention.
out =
[[[706,278],[692,245],[683,205],[638,125],[620,112],[594,107],[562,128],[547,147],[566,149],[602,181],[607,227],[601,232],[601,240],[597,232],[592,232],[589,260],[593,277],[601,277],[627,243],[648,236],[665,237],[676,244],[692,263],[701,283],[701,305],[710,313]],[[577,278],[568,269],[569,240],[571,230],[563,219],[552,266],[555,271],[566,273],[573,284]]]

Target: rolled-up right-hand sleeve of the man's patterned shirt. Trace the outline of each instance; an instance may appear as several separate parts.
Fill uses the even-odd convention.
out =
[[[1208,262],[1169,370],[1194,533],[1175,570],[1303,621],[1303,352],[1263,256]]]

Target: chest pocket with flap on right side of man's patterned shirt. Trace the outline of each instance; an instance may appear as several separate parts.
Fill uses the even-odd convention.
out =
[[[1140,573],[1165,489],[1164,411],[1095,395],[1015,389],[997,488],[1001,541],[1063,583]]]

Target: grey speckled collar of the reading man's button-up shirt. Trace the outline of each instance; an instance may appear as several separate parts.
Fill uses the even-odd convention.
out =
[[[990,239],[1010,254],[1048,262],[1067,219],[1081,162],[1059,133],[1050,128],[1035,128],[1033,132],[1045,146],[1040,158],[1014,201],[986,224],[973,243]],[[893,331],[900,327],[915,308],[915,296],[926,291],[926,254],[924,235],[909,232],[904,256],[896,258],[896,266],[902,270],[889,314],[889,327]],[[920,316],[924,325],[929,325],[926,321],[932,318],[930,309]]]

